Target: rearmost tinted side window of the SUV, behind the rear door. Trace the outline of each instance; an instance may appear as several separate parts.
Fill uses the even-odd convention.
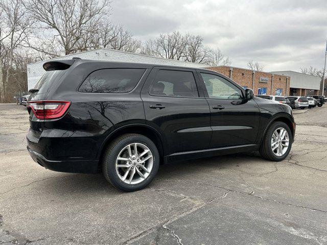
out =
[[[126,93],[135,88],[145,69],[114,68],[92,72],[78,91],[88,93]]]

